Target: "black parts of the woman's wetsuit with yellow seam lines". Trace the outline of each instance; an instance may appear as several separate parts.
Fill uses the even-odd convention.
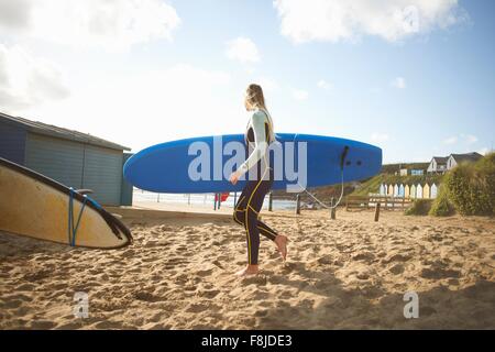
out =
[[[265,141],[270,141],[270,124],[264,123]],[[249,128],[246,136],[246,157],[250,155],[251,145],[254,143],[253,128]],[[248,242],[248,263],[257,264],[258,249],[260,249],[260,233],[267,239],[274,241],[277,233],[272,230],[264,222],[258,220],[258,213],[263,206],[263,200],[273,185],[274,172],[270,167],[268,152],[256,163],[255,179],[248,178],[239,201],[235,205],[233,219],[239,224],[242,224],[246,233]],[[253,166],[254,167],[254,166]]]

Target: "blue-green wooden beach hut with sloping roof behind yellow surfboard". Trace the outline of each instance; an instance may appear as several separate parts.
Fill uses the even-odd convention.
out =
[[[122,177],[130,148],[97,136],[0,112],[0,157],[75,189],[89,188],[102,205],[132,205]]]

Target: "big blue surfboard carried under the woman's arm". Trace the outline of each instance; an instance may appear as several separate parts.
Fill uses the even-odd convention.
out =
[[[202,136],[153,145],[127,161],[124,178],[138,188],[156,193],[239,191],[245,180],[234,186],[228,180],[230,173],[222,170],[229,166],[227,164],[232,164],[233,157],[241,162],[245,160],[245,150],[242,153],[237,150],[243,145],[243,134]],[[352,140],[277,133],[277,142],[272,147],[272,164],[276,163],[274,168],[278,170],[273,189],[333,185],[341,183],[342,177],[345,183],[354,182],[372,177],[382,168],[380,147]],[[305,175],[302,170],[306,170]]]

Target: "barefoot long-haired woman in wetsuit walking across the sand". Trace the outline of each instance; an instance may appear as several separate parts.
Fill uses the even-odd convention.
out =
[[[244,227],[248,242],[248,266],[237,273],[240,276],[255,275],[258,272],[260,233],[276,244],[284,260],[287,255],[287,237],[277,234],[257,219],[265,195],[272,188],[274,179],[268,145],[275,141],[273,121],[258,85],[248,87],[244,105],[251,113],[244,135],[248,158],[230,176],[233,185],[244,174],[248,179],[233,213],[234,221]]]

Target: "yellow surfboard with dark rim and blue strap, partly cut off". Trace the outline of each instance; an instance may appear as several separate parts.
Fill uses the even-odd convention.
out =
[[[129,229],[90,197],[1,157],[0,230],[95,249],[132,242]]]

